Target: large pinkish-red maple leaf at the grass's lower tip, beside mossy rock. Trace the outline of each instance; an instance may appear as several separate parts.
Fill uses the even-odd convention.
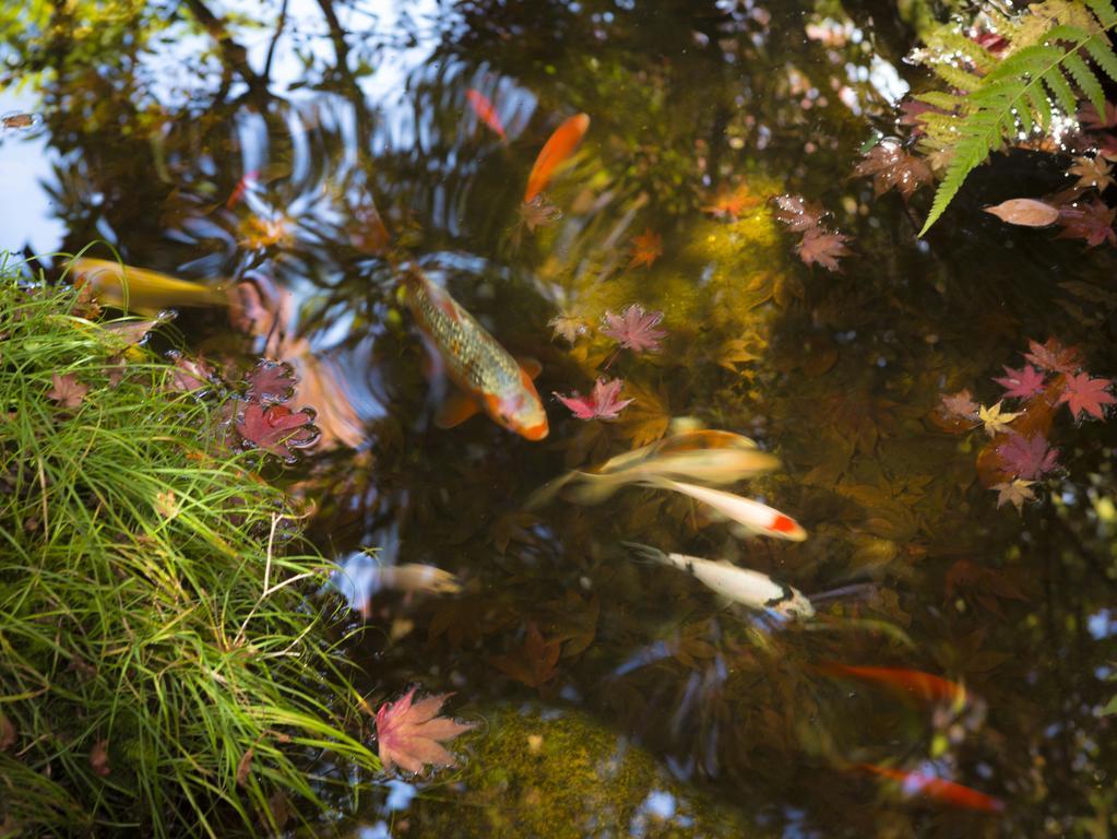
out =
[[[376,711],[376,752],[385,772],[395,765],[416,773],[428,763],[436,769],[454,766],[454,755],[441,744],[475,725],[437,716],[452,694],[427,696],[413,703],[416,689]]]

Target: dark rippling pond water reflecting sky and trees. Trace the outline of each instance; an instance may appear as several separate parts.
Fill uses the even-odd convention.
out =
[[[462,768],[378,782],[317,832],[1109,835],[1117,431],[1049,417],[1060,468],[1018,513],[980,479],[990,438],[951,428],[941,400],[995,403],[992,379],[1029,341],[1117,374],[1113,250],[981,212],[1057,188],[1050,156],[997,158],[925,239],[928,187],[905,202],[852,174],[925,84],[894,4],[212,3],[233,21],[220,41],[183,22],[206,7],[175,6],[151,3],[139,30],[112,15],[97,37],[76,28],[65,60],[65,45],[8,41],[9,75],[32,85],[2,109],[42,121],[0,139],[3,245],[101,240],[130,265],[254,284],[281,313],[270,335],[219,307],[181,309],[176,327],[210,359],[296,360],[323,439],[283,479],[315,502],[312,537],[365,562],[365,583],[380,578],[364,549],[460,582],[360,583],[351,656],[378,700],[455,692],[451,713],[484,723]],[[546,192],[557,212],[528,229],[533,161],[577,113],[590,127]],[[783,193],[850,237],[840,271],[796,258],[767,202]],[[662,252],[633,265],[646,231]],[[436,426],[403,259],[542,362],[546,439],[484,417]],[[658,352],[601,333],[630,304],[663,313]],[[573,343],[558,316],[585,326]],[[634,400],[615,421],[552,395],[598,376]],[[779,471],[735,489],[809,537],[741,538],[643,487],[525,507],[679,418],[773,452]],[[869,585],[783,621],[634,562],[626,541],[806,594]],[[836,665],[933,674],[965,699]]]

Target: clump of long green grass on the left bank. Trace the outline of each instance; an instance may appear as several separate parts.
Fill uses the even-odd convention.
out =
[[[0,266],[0,833],[276,830],[312,761],[379,768],[304,597],[327,563],[214,401],[80,311]]]

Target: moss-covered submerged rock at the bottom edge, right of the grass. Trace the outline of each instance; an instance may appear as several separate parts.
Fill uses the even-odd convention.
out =
[[[487,726],[457,750],[469,753],[460,776],[397,812],[393,836],[762,836],[742,811],[675,780],[583,712],[528,705],[485,716]]]

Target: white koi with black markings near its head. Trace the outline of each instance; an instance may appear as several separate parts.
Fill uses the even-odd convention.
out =
[[[622,542],[626,547],[646,562],[686,571],[698,582],[716,591],[734,603],[750,609],[770,609],[784,618],[813,618],[814,607],[810,599],[786,583],[780,583],[767,574],[738,568],[732,562],[703,560],[681,553],[663,553],[638,542]]]

